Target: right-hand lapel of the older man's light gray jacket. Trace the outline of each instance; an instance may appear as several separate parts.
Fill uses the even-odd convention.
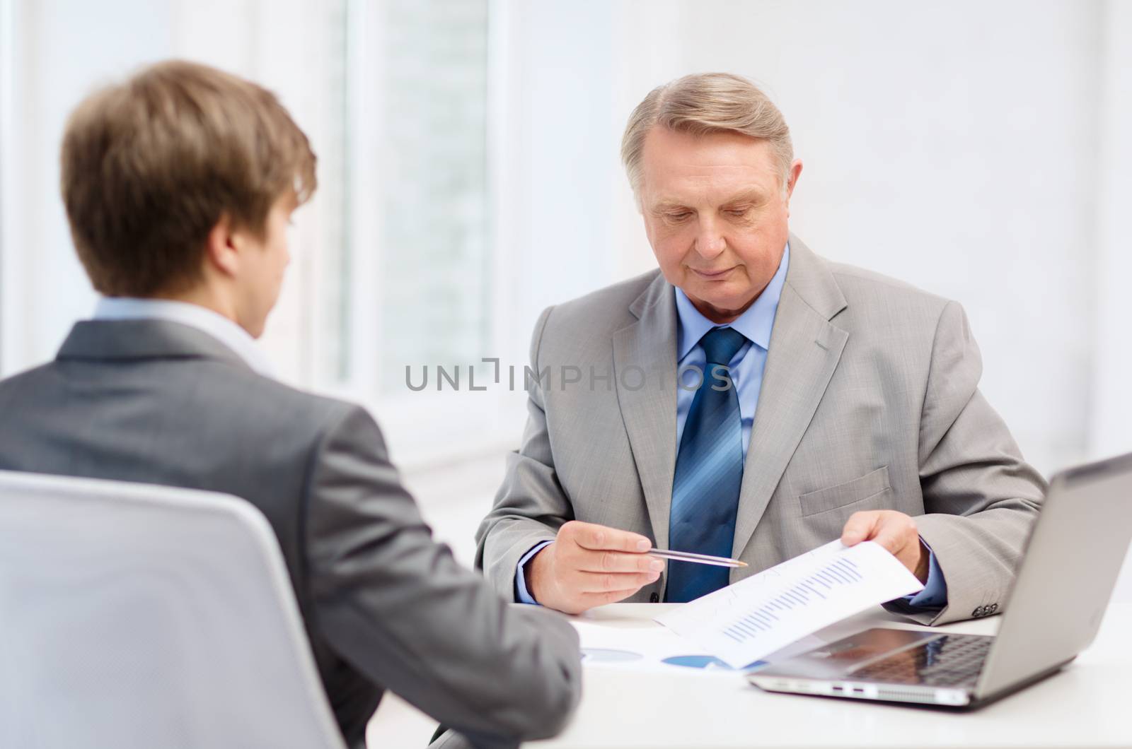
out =
[[[749,543],[841,360],[849,334],[829,320],[844,307],[824,261],[791,235],[790,267],[743,466],[735,557]]]

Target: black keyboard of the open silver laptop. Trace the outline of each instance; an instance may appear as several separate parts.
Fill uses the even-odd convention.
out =
[[[944,635],[861,666],[851,675],[871,681],[974,687],[993,642],[993,637],[978,635]]]

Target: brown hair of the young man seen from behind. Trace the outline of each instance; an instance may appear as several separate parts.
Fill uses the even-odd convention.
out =
[[[199,278],[228,216],[260,236],[272,205],[315,191],[315,154],[274,94],[171,60],[95,92],[63,135],[61,188],[94,287],[149,296]]]

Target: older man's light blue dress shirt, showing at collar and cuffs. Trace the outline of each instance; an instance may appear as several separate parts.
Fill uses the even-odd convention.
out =
[[[766,353],[771,346],[771,332],[774,329],[774,315],[778,312],[782,286],[786,285],[787,268],[790,266],[790,246],[782,252],[782,261],[771,282],[758,295],[755,302],[734,321],[727,325],[746,336],[749,343],[744,344],[729,364],[731,381],[739,396],[739,419],[743,428],[743,457],[747,457],[751,445],[751,428],[755,422],[755,408],[758,406],[758,391],[763,386],[763,370],[766,368]],[[680,327],[676,338],[676,354],[680,378],[680,387],[676,389],[676,444],[680,444],[684,434],[684,422],[687,421],[692,401],[695,398],[701,373],[706,371],[706,356],[700,339],[714,327],[712,322],[695,308],[683,289],[676,289],[676,311]],[[695,368],[693,371],[692,368]],[[533,546],[518,560],[515,571],[515,593],[520,603],[538,603],[526,589],[523,567],[539,553],[550,541],[543,541]],[[931,553],[931,549],[928,550]],[[947,602],[947,586],[943,572],[935,561],[935,554],[928,558],[928,576],[924,589],[914,596],[903,599],[904,603],[916,608],[938,608]]]

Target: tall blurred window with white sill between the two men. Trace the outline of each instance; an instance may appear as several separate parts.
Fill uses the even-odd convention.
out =
[[[499,416],[521,393],[469,390],[469,370],[479,385],[494,374],[481,360],[499,355],[491,8],[349,5],[345,229],[337,287],[321,294],[338,310],[328,336],[338,348],[315,385],[369,405],[410,464],[497,449],[522,423],[516,407]],[[458,390],[445,381],[437,391],[437,367],[460,371]],[[428,370],[424,390],[408,387],[406,368],[414,386]]]

